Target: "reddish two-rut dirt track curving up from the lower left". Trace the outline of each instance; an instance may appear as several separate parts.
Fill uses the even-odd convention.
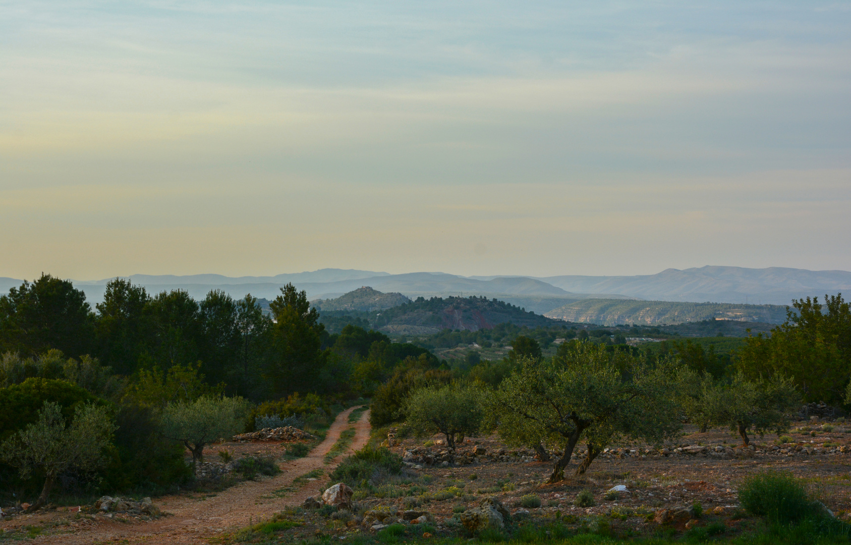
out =
[[[317,495],[320,487],[327,483],[328,473],[340,462],[343,456],[366,445],[369,439],[369,411],[363,412],[355,424],[349,424],[349,414],[355,407],[348,409],[334,420],[328,429],[325,440],[311,450],[304,458],[281,465],[283,473],[270,479],[245,481],[239,485],[223,490],[215,496],[203,494],[189,496],[163,496],[155,503],[169,516],[150,522],[137,524],[116,522],[100,515],[97,522],[88,527],[79,528],[71,533],[54,534],[37,537],[38,543],[62,543],[62,545],[83,545],[97,542],[121,543],[207,543],[208,538],[217,536],[222,531],[232,531],[248,525],[252,520],[265,519],[272,513],[282,510],[285,506],[300,504],[308,496]],[[337,439],[340,433],[349,427],[355,427],[355,438],[344,455],[326,464],[323,457]],[[308,481],[305,485],[294,486],[293,479],[310,472],[312,469],[323,468],[322,477]],[[293,487],[293,491],[282,491]],[[37,515],[33,519],[22,522],[26,525],[38,525]]]

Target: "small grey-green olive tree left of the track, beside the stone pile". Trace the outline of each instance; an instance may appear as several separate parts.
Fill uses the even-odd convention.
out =
[[[162,433],[190,450],[194,467],[203,462],[206,445],[239,433],[247,414],[248,402],[238,397],[202,396],[194,401],[176,401],[163,410]]]

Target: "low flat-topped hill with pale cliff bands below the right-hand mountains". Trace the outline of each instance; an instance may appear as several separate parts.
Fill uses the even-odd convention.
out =
[[[586,299],[568,303],[545,315],[569,322],[606,325],[683,324],[714,319],[780,324],[786,318],[786,309],[780,305]]]

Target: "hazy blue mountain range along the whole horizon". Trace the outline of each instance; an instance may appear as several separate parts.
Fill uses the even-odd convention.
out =
[[[197,299],[209,290],[225,290],[241,298],[247,293],[274,299],[283,284],[292,282],[306,290],[311,300],[329,299],[371,286],[382,292],[417,296],[486,295],[517,306],[547,313],[571,301],[585,299],[642,299],[651,301],[727,302],[787,305],[792,299],[851,290],[851,272],[808,271],[783,267],[750,269],[743,267],[700,267],[666,269],[658,274],[639,276],[489,276],[463,277],[443,272],[388,272],[352,269],[320,269],[277,276],[231,278],[219,274],[190,276],[142,275],[129,278],[157,293],[186,290]],[[89,301],[102,301],[110,278],[74,281]],[[21,280],[0,278],[0,292],[20,285]]]

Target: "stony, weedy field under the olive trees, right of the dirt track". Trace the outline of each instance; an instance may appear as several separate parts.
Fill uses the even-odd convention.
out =
[[[409,537],[468,536],[468,513],[487,510],[489,498],[505,507],[511,531],[523,525],[576,530],[602,524],[619,536],[693,527],[732,536],[758,523],[739,508],[737,485],[767,469],[807,479],[838,517],[848,518],[851,511],[851,425],[844,422],[797,422],[791,433],[753,438],[751,448],[742,448],[739,436],[727,430],[699,433],[687,427],[669,445],[612,445],[585,475],[575,476],[569,472],[584,456],[579,452],[568,478],[555,484],[547,483],[551,462],[540,462],[533,450],[512,449],[495,435],[467,439],[454,454],[438,436],[398,439],[391,432],[386,445],[406,461],[401,477],[378,479],[371,491],[355,490],[350,508],[288,508],[277,515],[277,524],[287,522],[279,538],[380,540],[376,532],[392,529]],[[578,501],[584,490],[590,502]],[[229,539],[237,537],[252,541],[251,529]]]

